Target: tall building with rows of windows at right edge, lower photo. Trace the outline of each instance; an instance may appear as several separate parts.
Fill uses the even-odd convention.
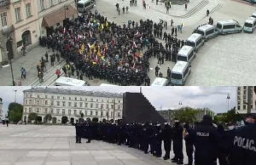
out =
[[[256,94],[255,87],[251,88],[251,91],[248,91],[247,86],[241,86],[236,88],[236,113],[237,114],[246,114],[247,113],[247,93],[251,93],[251,111],[256,113]]]

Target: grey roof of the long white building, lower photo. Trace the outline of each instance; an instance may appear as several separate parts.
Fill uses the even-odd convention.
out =
[[[121,94],[121,93],[117,94],[117,93],[109,93],[109,92],[72,90],[72,89],[66,89],[66,88],[48,88],[48,87],[46,87],[46,88],[31,88],[31,89],[23,90],[23,93],[25,93],[25,92],[123,98],[123,94]]]

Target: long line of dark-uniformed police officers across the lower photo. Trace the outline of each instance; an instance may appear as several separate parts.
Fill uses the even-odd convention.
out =
[[[227,129],[212,122],[212,117],[205,115],[201,122],[189,125],[178,120],[165,122],[123,123],[119,122],[83,122],[77,121],[76,142],[81,138],[103,140],[117,145],[128,145],[161,157],[162,142],[164,145],[164,160],[170,159],[173,150],[172,162],[183,164],[183,139],[188,156],[188,165],[254,165],[256,117],[248,115],[245,126],[236,128],[230,123]],[[194,154],[195,152],[195,154]]]

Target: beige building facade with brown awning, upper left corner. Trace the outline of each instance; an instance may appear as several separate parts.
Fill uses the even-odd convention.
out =
[[[38,45],[47,30],[77,16],[74,0],[0,0],[0,63]],[[10,39],[11,38],[11,39]]]

